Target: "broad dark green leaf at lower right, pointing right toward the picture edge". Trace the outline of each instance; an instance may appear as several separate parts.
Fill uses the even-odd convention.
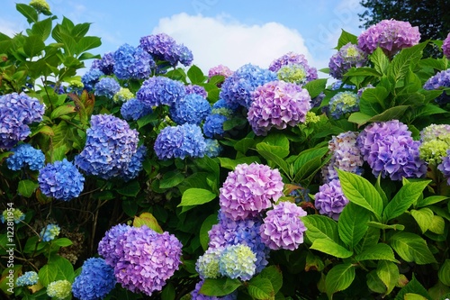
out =
[[[398,232],[392,235],[390,244],[401,259],[425,265],[436,262],[428,249],[427,241],[419,235],[410,232]]]

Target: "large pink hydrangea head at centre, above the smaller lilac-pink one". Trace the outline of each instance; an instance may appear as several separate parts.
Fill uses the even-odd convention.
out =
[[[232,220],[255,217],[278,201],[283,188],[278,169],[258,163],[239,164],[220,187],[221,212]]]

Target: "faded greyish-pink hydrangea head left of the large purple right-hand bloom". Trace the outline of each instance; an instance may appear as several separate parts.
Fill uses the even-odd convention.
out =
[[[333,136],[329,141],[329,153],[332,154],[329,163],[322,168],[322,177],[325,183],[338,179],[335,168],[352,172],[357,175],[363,174],[363,155],[357,145],[356,132],[342,132]]]

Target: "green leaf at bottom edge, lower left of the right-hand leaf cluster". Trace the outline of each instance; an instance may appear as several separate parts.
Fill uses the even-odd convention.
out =
[[[336,292],[345,290],[355,280],[355,268],[352,264],[336,265],[329,270],[325,277],[325,288],[329,299]]]

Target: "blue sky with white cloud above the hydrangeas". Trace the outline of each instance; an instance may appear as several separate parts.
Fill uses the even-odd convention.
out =
[[[0,32],[13,36],[29,28],[15,10],[1,0]],[[193,64],[207,74],[224,65],[231,70],[252,63],[268,68],[288,52],[303,54],[311,67],[327,68],[336,53],[342,30],[359,35],[359,0],[47,0],[50,10],[74,23],[92,23],[87,35],[102,38],[90,50],[103,55],[122,44],[164,32],[193,52]],[[86,63],[87,66],[90,62]],[[327,77],[322,74],[320,77]]]

